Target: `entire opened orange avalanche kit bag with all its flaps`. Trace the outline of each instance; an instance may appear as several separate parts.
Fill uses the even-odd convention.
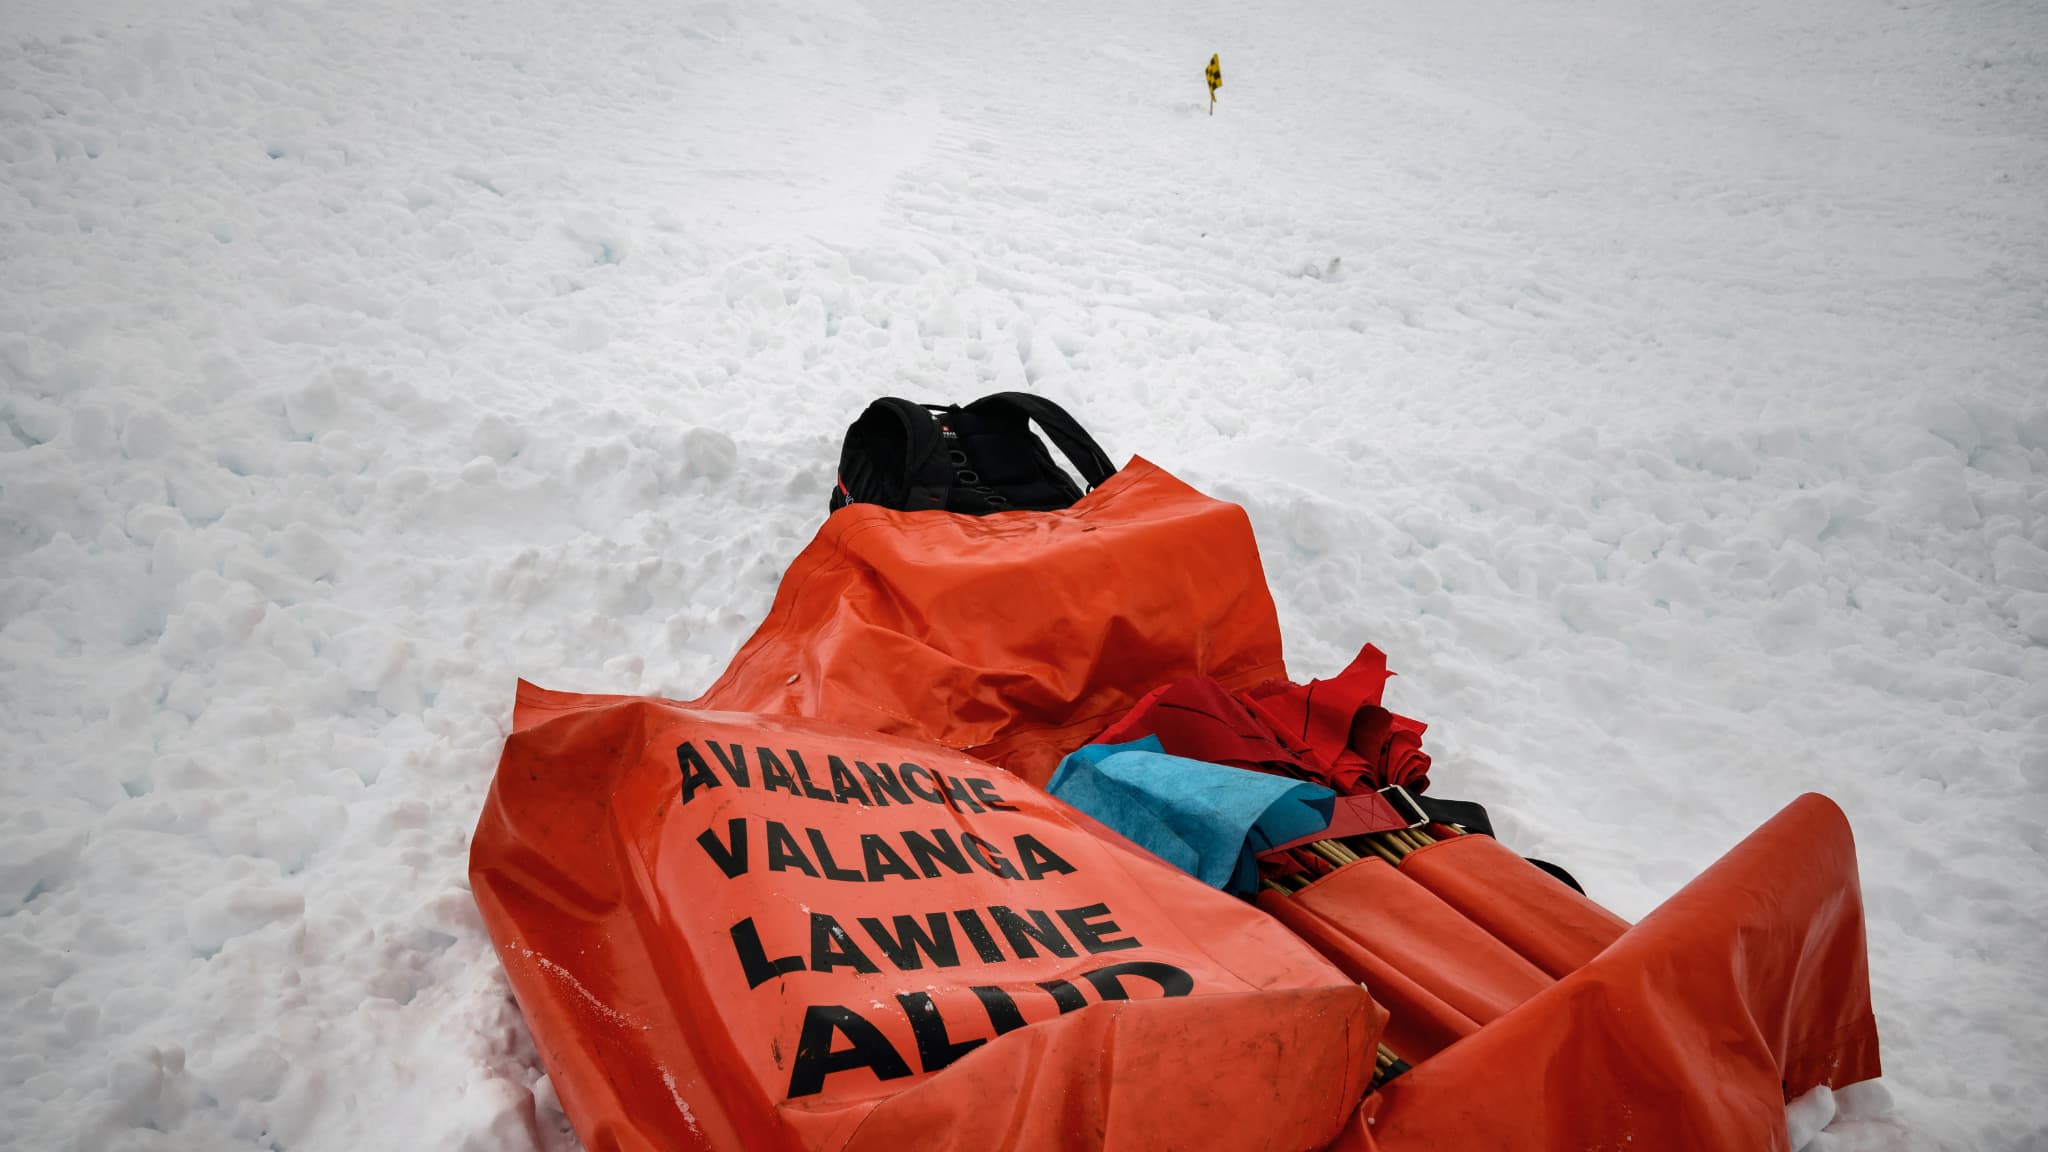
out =
[[[1626,924],[1380,801],[1419,726],[1376,683],[1288,685],[1241,508],[1143,459],[1090,482],[1006,515],[838,500],[694,701],[520,685],[471,879],[586,1148],[1753,1152],[1788,1099],[1878,1074],[1831,801]],[[1112,750],[1171,752],[1139,705],[1190,683],[1249,701],[1204,713],[1231,746],[1280,748],[1243,763],[1337,785],[1253,900],[1163,859],[1184,814],[1047,791],[1120,724],[1151,715]]]

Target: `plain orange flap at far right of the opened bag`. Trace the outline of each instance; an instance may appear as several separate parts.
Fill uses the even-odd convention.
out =
[[[1784,1150],[1786,1099],[1880,1072],[1855,845],[1802,795],[1583,968],[1366,1097],[1333,1152]]]

